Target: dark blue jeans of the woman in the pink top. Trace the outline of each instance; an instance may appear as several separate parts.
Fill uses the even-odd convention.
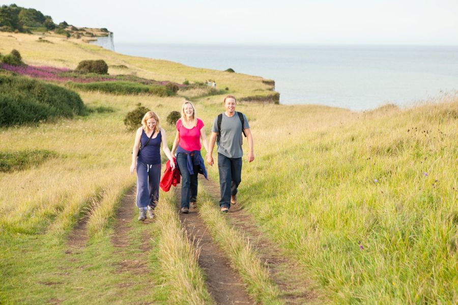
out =
[[[190,175],[187,166],[187,156],[184,153],[179,153],[177,155],[177,163],[180,168],[181,174],[181,199],[180,207],[189,208],[189,203],[191,201],[197,200],[197,174],[199,167],[194,166],[194,174]]]

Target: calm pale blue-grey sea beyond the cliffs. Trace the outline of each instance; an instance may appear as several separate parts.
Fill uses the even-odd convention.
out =
[[[407,106],[458,90],[458,46],[117,43],[116,51],[273,79],[281,104],[366,110],[386,103]]]

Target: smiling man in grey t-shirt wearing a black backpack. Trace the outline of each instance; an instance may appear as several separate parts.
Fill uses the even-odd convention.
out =
[[[213,147],[218,138],[218,171],[221,200],[220,211],[227,213],[232,204],[237,203],[237,188],[242,173],[242,133],[248,141],[248,162],[254,160],[253,137],[245,114],[235,111],[236,98],[228,95],[224,98],[226,111],[215,118],[207,152],[207,162],[213,166]],[[242,126],[243,124],[243,126]],[[220,125],[220,128],[218,128]]]

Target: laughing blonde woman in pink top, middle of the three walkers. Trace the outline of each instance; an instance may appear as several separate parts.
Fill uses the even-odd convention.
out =
[[[177,152],[177,165],[181,174],[181,212],[187,214],[189,206],[196,207],[197,174],[207,175],[201,155],[201,140],[208,151],[204,122],[196,117],[194,105],[186,101],[181,107],[181,118],[177,121],[177,136],[171,153]],[[206,176],[207,177],[207,176]]]

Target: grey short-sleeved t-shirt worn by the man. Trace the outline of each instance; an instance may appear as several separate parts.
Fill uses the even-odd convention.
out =
[[[243,114],[243,120],[243,129],[250,128],[245,114]],[[213,122],[212,132],[218,133],[218,117],[216,117]],[[242,122],[240,121],[237,111],[234,112],[234,116],[227,116],[223,112],[218,153],[227,158],[241,158],[243,156],[242,137]]]

